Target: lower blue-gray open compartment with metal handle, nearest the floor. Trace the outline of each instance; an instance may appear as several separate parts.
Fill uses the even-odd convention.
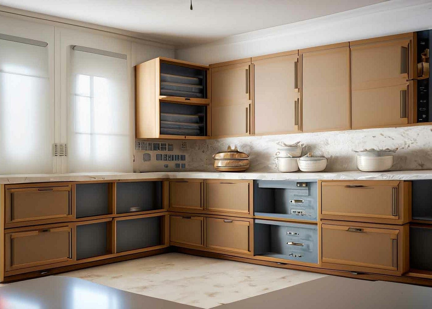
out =
[[[318,263],[318,225],[256,219],[254,255]]]

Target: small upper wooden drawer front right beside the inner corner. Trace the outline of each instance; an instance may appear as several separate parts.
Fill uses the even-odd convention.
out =
[[[203,182],[170,182],[169,206],[203,208]]]

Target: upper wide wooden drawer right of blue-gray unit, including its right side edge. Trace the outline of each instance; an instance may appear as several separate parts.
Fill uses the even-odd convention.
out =
[[[411,220],[411,183],[322,181],[321,218],[403,224]]]

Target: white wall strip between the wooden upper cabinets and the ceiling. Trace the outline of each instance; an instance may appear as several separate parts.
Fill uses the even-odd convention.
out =
[[[198,47],[176,58],[210,64],[325,44],[432,28],[432,2],[390,0],[347,12],[281,25]]]

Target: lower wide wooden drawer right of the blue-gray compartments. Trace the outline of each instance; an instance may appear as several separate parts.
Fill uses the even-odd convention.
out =
[[[402,274],[408,270],[407,236],[408,224],[341,224],[340,221],[327,221],[321,224],[322,263],[326,264],[322,266],[348,271]]]

